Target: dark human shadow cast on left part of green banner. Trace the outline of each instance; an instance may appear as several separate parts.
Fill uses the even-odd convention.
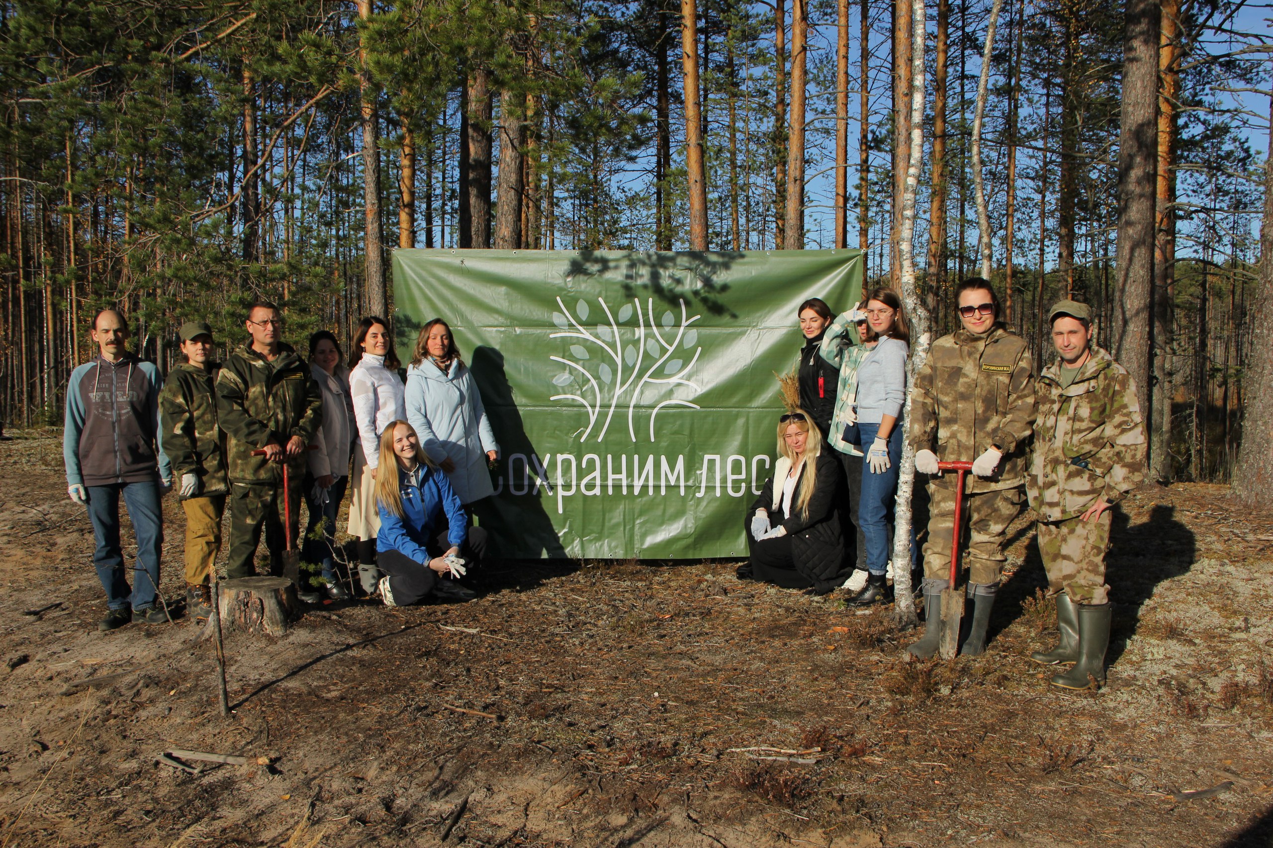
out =
[[[481,392],[482,405],[490,416],[491,428],[495,430],[504,472],[507,474],[509,467],[508,457],[514,453],[526,457],[542,456],[535,449],[531,437],[526,433],[522,414],[513,397],[513,387],[504,373],[504,354],[495,348],[479,346],[474,350],[468,367],[477,382],[477,390]],[[491,534],[496,555],[503,551],[505,559],[514,556],[526,559],[527,554],[547,556],[549,559],[566,558],[565,548],[552,526],[552,519],[549,518],[544,503],[535,493],[526,495],[503,493],[482,498],[474,504],[474,512],[477,516],[477,523]],[[512,554],[513,551],[517,551],[516,555]]]

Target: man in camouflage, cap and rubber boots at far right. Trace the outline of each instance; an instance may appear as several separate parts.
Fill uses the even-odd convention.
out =
[[[1105,684],[1110,638],[1105,551],[1110,507],[1144,479],[1144,421],[1123,365],[1091,344],[1086,303],[1062,300],[1048,316],[1058,360],[1039,376],[1039,420],[1026,477],[1039,514],[1039,553],[1057,597],[1060,640],[1036,662],[1073,662],[1051,684]]]

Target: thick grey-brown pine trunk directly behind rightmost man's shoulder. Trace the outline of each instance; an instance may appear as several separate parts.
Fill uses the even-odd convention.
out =
[[[1157,0],[1127,3],[1118,157],[1113,353],[1132,374],[1143,409],[1153,407],[1150,350],[1158,158],[1158,15]]]

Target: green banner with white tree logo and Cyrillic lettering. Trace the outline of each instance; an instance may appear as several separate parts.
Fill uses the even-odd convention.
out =
[[[518,558],[746,556],[797,309],[847,309],[859,251],[400,250],[398,355],[446,318],[500,444],[476,509]]]

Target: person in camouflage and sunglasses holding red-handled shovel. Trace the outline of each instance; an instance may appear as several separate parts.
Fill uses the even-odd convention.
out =
[[[969,278],[956,289],[962,327],[933,343],[915,374],[910,443],[915,470],[928,483],[928,540],[924,542],[924,637],[908,651],[937,652],[942,591],[950,562],[957,476],[941,476],[943,461],[973,460],[965,480],[969,525],[967,595],[973,618],[960,653],[985,651],[990,609],[1003,570],[1003,545],[1025,495],[1026,446],[1034,433],[1035,381],[1030,348],[999,321],[999,299],[987,280]],[[936,451],[936,452],[934,452]]]

